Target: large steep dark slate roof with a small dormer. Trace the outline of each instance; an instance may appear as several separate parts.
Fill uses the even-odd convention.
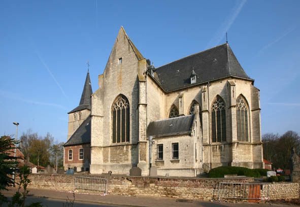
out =
[[[197,75],[196,83],[190,84],[191,73]],[[229,45],[199,52],[156,68],[156,81],[166,92],[225,77],[250,79]]]

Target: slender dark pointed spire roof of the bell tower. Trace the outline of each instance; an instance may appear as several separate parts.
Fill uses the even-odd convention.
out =
[[[89,72],[87,72],[83,91],[81,94],[81,99],[79,102],[79,106],[76,107],[75,109],[73,109],[68,114],[73,113],[73,112],[78,112],[78,111],[81,111],[84,109],[91,110],[91,95],[92,95],[92,93],[93,93],[93,91],[92,91],[91,81],[89,78]]]

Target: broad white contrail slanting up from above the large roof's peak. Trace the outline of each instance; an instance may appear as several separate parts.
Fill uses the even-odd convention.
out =
[[[219,45],[222,39],[225,36],[225,33],[230,29],[231,25],[235,22],[236,18],[239,16],[241,10],[246,4],[247,0],[237,2],[236,6],[231,10],[231,15],[225,19],[218,31],[215,33],[215,36],[209,41],[207,48],[212,46]]]

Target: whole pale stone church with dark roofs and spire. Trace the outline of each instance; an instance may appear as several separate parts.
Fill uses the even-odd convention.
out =
[[[93,93],[87,73],[68,131],[64,168],[91,174],[263,168],[259,89],[227,43],[154,67],[121,27]]]

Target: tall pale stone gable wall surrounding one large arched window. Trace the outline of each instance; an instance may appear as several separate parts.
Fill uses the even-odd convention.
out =
[[[119,58],[122,63],[118,64]],[[99,89],[92,95],[91,172],[129,172],[138,162],[139,78],[146,71],[146,61],[138,60],[125,33],[120,29],[104,74],[99,76]],[[120,94],[130,105],[130,143],[112,143],[111,109]],[[122,153],[121,153],[122,152]],[[118,163],[119,165],[116,165]],[[126,170],[125,170],[126,169]]]

